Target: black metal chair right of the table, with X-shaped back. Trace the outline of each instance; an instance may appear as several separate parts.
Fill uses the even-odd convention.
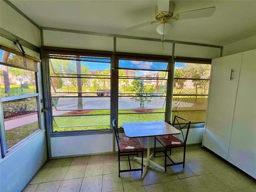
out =
[[[164,136],[155,136],[155,143],[154,143],[154,156],[156,156],[156,153],[158,152],[163,152],[165,155],[164,158],[164,172],[166,171],[166,167],[168,166],[173,166],[173,165],[178,165],[178,164],[183,164],[183,167],[185,166],[185,155],[186,155],[186,142],[188,138],[188,131],[190,128],[191,122],[178,117],[174,116],[173,124],[172,126],[178,126],[180,132],[182,133],[183,141],[176,138],[174,135],[164,135]],[[183,129],[187,128],[186,135],[184,137]],[[165,148],[164,150],[158,150],[156,151],[156,140],[162,144],[162,146]],[[167,152],[170,151],[170,154],[172,152],[172,148],[177,148],[177,147],[184,147],[184,152],[183,152],[183,161],[182,162],[174,162],[170,156],[168,156]],[[170,164],[167,164],[167,158],[171,161]]]

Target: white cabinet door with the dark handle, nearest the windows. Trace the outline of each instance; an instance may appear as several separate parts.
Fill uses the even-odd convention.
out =
[[[212,60],[203,145],[227,159],[242,53]],[[230,75],[232,72],[232,79]]]

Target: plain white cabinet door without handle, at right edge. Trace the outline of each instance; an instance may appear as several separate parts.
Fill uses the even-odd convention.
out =
[[[228,161],[256,178],[256,50],[243,53]]]

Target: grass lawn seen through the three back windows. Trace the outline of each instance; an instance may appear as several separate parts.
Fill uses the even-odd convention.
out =
[[[195,104],[200,105],[200,104]],[[196,107],[195,107],[196,108]],[[184,108],[182,108],[184,110]],[[186,108],[188,110],[188,108]],[[161,113],[157,113],[161,112]],[[132,110],[123,110],[118,113],[118,124],[121,126],[124,122],[142,122],[142,121],[162,121],[164,120],[165,109],[154,110],[152,113],[138,114]],[[128,114],[124,114],[128,113]],[[87,114],[110,114],[110,110],[94,110]],[[181,116],[191,122],[204,122],[206,111],[182,111],[173,112],[173,116]],[[98,130],[98,129],[109,129],[110,128],[110,115],[102,116],[70,116],[70,117],[55,117],[59,126],[70,126],[70,127],[57,127],[54,123],[54,131],[73,131],[73,130]],[[93,126],[98,124],[99,126]],[[102,125],[106,124],[106,125]],[[92,126],[82,126],[92,125]],[[82,126],[82,127],[74,127]]]

